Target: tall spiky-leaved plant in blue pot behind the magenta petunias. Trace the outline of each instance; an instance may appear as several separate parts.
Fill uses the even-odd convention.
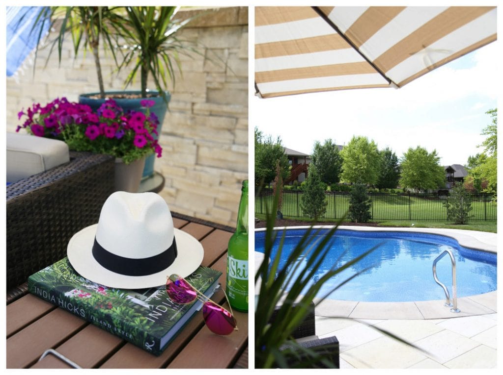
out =
[[[181,72],[179,55],[199,53],[178,37],[180,30],[194,19],[178,19],[179,9],[180,7],[47,7],[38,16],[32,30],[39,43],[42,35],[36,31],[41,30],[39,27],[45,22],[49,22],[52,29],[59,30],[51,47],[52,51],[57,45],[59,61],[67,34],[71,35],[75,57],[81,47],[92,51],[100,92],[81,94],[80,103],[97,110],[106,97],[111,97],[126,111],[142,111],[142,100],[153,100],[150,113],[158,119],[159,125],[155,132],[158,135],[171,98],[167,88],[170,83],[175,83],[177,70]],[[105,41],[104,50],[111,51],[119,72],[131,69],[126,76],[125,87],[132,84],[139,74],[140,91],[105,92],[99,56],[100,41]],[[155,90],[147,88],[149,77],[155,84]],[[145,161],[144,178],[153,175],[153,164],[154,156],[151,155]]]

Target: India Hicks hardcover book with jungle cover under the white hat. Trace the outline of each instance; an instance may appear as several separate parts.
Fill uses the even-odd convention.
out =
[[[222,273],[199,267],[185,278],[210,297]],[[202,306],[181,305],[164,286],[142,290],[108,288],[81,277],[64,258],[28,278],[30,293],[159,355]]]

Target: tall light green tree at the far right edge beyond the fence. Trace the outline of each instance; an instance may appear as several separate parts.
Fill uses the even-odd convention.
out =
[[[468,158],[468,177],[473,181],[477,191],[497,191],[497,110],[487,112],[492,117],[491,124],[482,130],[482,135],[488,136],[482,145],[485,150],[482,154]],[[485,185],[485,188],[484,188]]]

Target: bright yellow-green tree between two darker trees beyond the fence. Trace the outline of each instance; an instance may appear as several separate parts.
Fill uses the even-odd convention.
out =
[[[374,185],[379,176],[379,152],[374,141],[354,136],[341,151],[341,179],[349,183]]]

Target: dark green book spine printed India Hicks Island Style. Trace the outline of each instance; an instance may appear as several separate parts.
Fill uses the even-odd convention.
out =
[[[133,328],[127,322],[123,322],[123,326],[117,326],[111,323],[111,318],[108,320],[101,319],[94,314],[94,306],[82,303],[85,299],[77,299],[76,301],[70,299],[65,296],[65,293],[67,292],[66,290],[44,284],[40,281],[35,282],[31,277],[29,277],[28,291],[37,297],[78,316],[81,319],[87,320],[88,322],[112,333],[113,335],[139,346],[149,353],[154,355],[159,355],[161,353],[159,338],[154,337],[143,330],[138,330],[137,327]]]

